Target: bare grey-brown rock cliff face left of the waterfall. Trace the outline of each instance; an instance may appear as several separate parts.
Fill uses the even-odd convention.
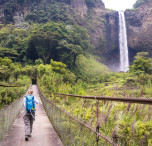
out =
[[[73,15],[70,8],[74,8]],[[119,66],[119,25],[118,12],[107,11],[102,1],[94,7],[88,7],[85,0],[73,0],[69,13],[75,16],[77,23],[86,28],[90,41],[94,44],[94,54],[101,57],[101,62],[116,69]]]

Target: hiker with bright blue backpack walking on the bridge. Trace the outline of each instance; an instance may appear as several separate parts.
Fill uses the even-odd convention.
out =
[[[35,120],[35,103],[38,104],[39,101],[32,95],[33,91],[29,90],[28,95],[24,98],[24,124],[25,124],[25,141],[29,140],[31,137],[33,121]]]

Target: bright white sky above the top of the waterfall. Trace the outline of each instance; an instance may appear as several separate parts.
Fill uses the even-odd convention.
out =
[[[102,0],[106,8],[113,10],[126,10],[133,8],[134,3],[137,0]]]

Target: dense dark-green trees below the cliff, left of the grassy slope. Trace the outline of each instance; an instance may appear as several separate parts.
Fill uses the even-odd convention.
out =
[[[91,48],[88,38],[87,31],[78,25],[48,22],[29,25],[28,30],[6,25],[0,29],[0,56],[23,63],[54,59],[72,68],[77,56]]]

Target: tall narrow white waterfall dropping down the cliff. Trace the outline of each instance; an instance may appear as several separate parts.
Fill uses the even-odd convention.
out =
[[[119,11],[119,49],[120,71],[127,72],[129,69],[127,32],[124,11]]]

